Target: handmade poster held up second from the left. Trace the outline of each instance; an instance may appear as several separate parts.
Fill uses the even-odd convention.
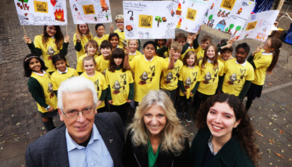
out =
[[[74,24],[111,23],[109,0],[70,0]]]

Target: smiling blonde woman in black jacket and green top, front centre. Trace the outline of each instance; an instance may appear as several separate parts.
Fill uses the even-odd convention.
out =
[[[124,166],[189,166],[189,140],[168,95],[149,91],[128,127]]]

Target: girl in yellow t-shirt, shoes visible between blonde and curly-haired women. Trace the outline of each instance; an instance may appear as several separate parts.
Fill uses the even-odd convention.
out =
[[[183,59],[183,68],[179,77],[179,108],[177,116],[181,122],[182,114],[185,116],[187,122],[191,122],[192,118],[189,115],[189,106],[191,99],[195,94],[200,84],[201,70],[197,66],[197,57],[194,51],[188,51]],[[184,113],[182,109],[185,107]]]

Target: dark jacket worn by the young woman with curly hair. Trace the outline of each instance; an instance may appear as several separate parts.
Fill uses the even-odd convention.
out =
[[[191,146],[191,166],[201,167],[211,132],[208,128],[199,129]],[[241,148],[237,139],[231,138],[205,167],[254,167],[251,159]]]

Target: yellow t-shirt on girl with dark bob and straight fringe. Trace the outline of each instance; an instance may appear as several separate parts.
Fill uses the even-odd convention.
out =
[[[134,82],[131,71],[127,70],[123,72],[122,69],[120,69],[111,72],[107,70],[105,79],[107,85],[110,86],[110,90],[108,91],[111,91],[113,105],[119,106],[125,104],[129,97],[129,84]]]

